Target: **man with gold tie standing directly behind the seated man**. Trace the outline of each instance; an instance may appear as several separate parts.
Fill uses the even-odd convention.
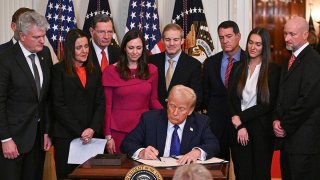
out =
[[[202,103],[201,63],[182,51],[183,37],[183,30],[179,25],[166,25],[162,32],[165,52],[150,56],[149,62],[158,67],[158,98],[163,107],[167,106],[166,99],[170,89],[182,84],[196,92],[196,110],[199,110]]]

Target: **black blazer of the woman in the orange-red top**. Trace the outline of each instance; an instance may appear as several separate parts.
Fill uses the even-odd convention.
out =
[[[63,61],[53,66],[52,102],[54,112],[53,136],[81,137],[83,130],[101,131],[105,111],[105,98],[98,71],[86,73],[86,86],[82,86],[76,72],[66,73]],[[97,134],[96,134],[97,135]]]

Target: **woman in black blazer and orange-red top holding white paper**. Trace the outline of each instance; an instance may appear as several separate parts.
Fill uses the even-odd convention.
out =
[[[86,144],[102,129],[105,98],[101,76],[88,54],[88,38],[73,29],[66,37],[63,61],[53,67],[52,134],[58,179],[66,178],[76,167],[67,164],[70,142],[80,138]]]

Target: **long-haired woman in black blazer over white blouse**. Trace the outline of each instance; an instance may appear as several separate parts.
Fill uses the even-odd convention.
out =
[[[270,64],[268,31],[253,29],[245,61],[234,64],[229,81],[231,154],[237,180],[270,180],[280,67]]]

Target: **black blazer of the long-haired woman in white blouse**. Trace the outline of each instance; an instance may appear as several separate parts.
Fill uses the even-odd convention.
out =
[[[273,114],[274,107],[276,105],[276,101],[278,97],[280,66],[276,64],[269,64],[269,73],[268,73],[269,74],[268,85],[269,85],[269,93],[270,93],[269,104],[263,105],[260,102],[258,102],[257,105],[242,111],[241,99],[238,97],[238,94],[237,94],[237,86],[238,86],[242,69],[245,68],[244,66],[245,66],[244,63],[241,63],[241,62],[235,63],[232,68],[232,72],[230,74],[231,79],[229,81],[229,88],[228,88],[230,116],[232,117],[232,116],[238,115],[240,117],[241,122],[245,125],[245,127],[249,128],[250,131],[254,131],[255,125],[257,125],[258,123],[258,125],[261,125],[265,129],[265,131],[260,133],[264,133],[264,134],[267,134],[269,137],[272,137],[273,136],[272,114]]]

